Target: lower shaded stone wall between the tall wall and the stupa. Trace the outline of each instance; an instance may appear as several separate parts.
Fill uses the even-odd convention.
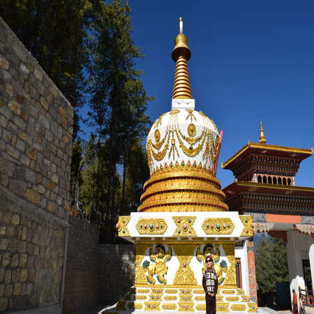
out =
[[[100,230],[70,216],[63,314],[114,304],[134,283],[135,246],[99,244]]]

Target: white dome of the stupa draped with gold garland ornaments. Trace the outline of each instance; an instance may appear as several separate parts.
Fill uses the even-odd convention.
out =
[[[151,174],[173,165],[195,165],[216,172],[220,135],[214,121],[191,109],[188,100],[173,102],[147,136],[147,156]],[[181,106],[181,107],[180,107]]]

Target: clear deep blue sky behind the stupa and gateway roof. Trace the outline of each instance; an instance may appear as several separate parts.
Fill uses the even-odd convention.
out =
[[[130,0],[133,40],[149,96],[151,121],[170,110],[174,62],[170,54],[184,19],[195,110],[224,131],[219,162],[248,140],[263,121],[267,144],[313,147],[314,1]],[[222,186],[229,170],[218,169]],[[314,157],[301,163],[296,183],[314,186]]]

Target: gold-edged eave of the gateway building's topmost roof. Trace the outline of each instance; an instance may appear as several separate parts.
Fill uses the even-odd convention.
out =
[[[299,149],[296,147],[284,147],[284,146],[278,146],[278,145],[271,145],[271,144],[260,144],[260,143],[251,143],[248,142],[244,147],[239,149],[236,154],[231,156],[229,159],[225,161],[225,163],[221,164],[221,167],[225,169],[228,165],[230,165],[234,160],[239,158],[244,152],[250,148],[255,148],[255,149],[269,149],[270,151],[285,151],[287,153],[294,153],[294,154],[305,154],[308,156],[311,156],[313,154],[313,148],[312,149]]]

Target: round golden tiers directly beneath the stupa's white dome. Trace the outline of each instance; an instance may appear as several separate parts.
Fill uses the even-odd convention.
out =
[[[208,170],[174,165],[152,174],[137,211],[227,211],[225,193]]]

